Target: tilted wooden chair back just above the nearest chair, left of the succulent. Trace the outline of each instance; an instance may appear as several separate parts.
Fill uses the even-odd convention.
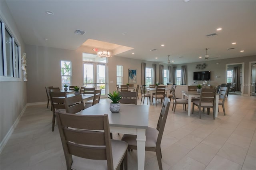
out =
[[[64,104],[67,113],[75,114],[85,109],[82,95],[66,97]]]

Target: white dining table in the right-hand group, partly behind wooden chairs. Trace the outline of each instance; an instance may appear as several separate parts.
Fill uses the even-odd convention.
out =
[[[196,91],[181,91],[182,92],[182,98],[184,99],[185,96],[188,97],[188,116],[190,116],[191,113],[191,101],[192,97],[200,97],[200,93]],[[218,117],[218,107],[219,107],[219,94],[215,95],[215,117]]]

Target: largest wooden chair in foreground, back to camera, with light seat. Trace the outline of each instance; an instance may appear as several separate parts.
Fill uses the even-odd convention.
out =
[[[67,170],[127,170],[127,147],[111,140],[108,115],[56,113]]]

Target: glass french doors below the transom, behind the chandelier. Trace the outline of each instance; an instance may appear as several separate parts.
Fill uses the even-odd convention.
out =
[[[106,63],[84,62],[83,85],[101,90],[101,97],[107,97]]]

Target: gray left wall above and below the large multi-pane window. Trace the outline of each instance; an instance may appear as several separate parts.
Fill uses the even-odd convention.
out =
[[[21,53],[25,52],[24,42],[10,14],[10,10],[5,1],[0,2],[0,14],[3,22],[8,25],[20,44]],[[23,81],[23,74],[18,81],[0,81],[0,141],[2,140],[22,112],[27,101],[26,83]]]

